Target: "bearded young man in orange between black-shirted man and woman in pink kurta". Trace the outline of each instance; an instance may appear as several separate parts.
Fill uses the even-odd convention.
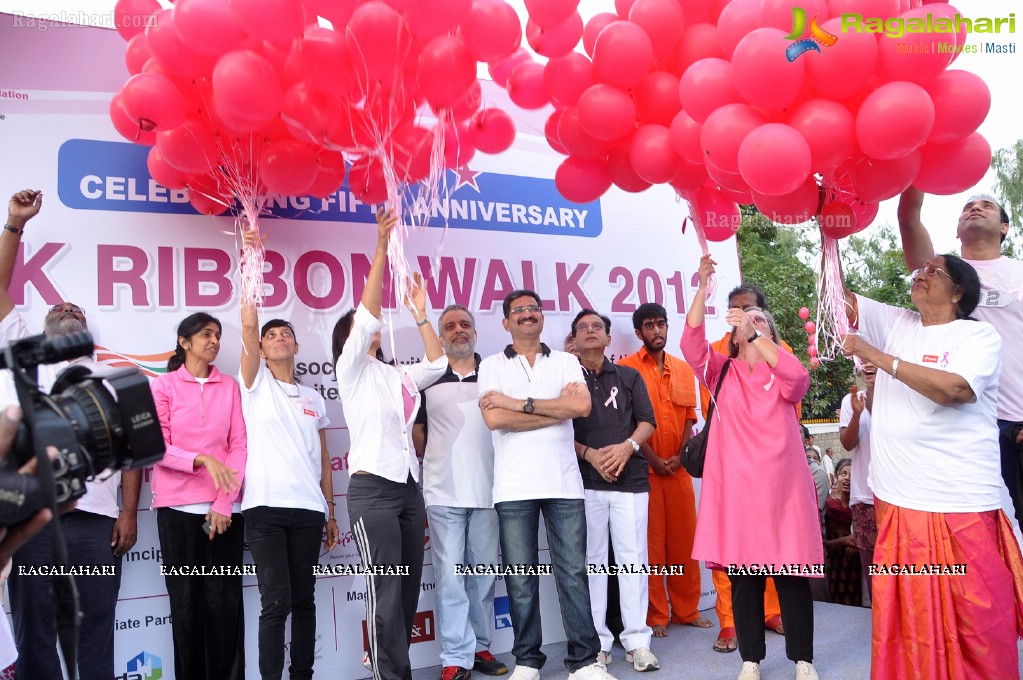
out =
[[[618,363],[639,371],[657,419],[657,429],[643,447],[650,472],[648,550],[652,564],[684,564],[679,576],[650,577],[647,624],[655,637],[668,634],[669,623],[710,628],[700,616],[700,562],[693,559],[697,506],[693,478],[682,469],[678,452],[696,424],[696,376],[681,359],[664,351],[668,316],[654,303],[640,305],[632,315],[642,348]],[[665,590],[667,587],[667,590]]]

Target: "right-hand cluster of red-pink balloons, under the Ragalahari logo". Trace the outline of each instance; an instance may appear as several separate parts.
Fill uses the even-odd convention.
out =
[[[791,35],[792,0],[615,0],[585,26],[578,0],[534,0],[527,37],[551,58],[519,65],[508,89],[542,87],[553,103],[546,135],[569,156],[555,182],[572,200],[668,183],[712,240],[735,232],[736,203],[780,223],[816,216],[842,237],[910,184],[955,193],[990,164],[976,132],[990,93],[947,70],[965,35],[841,30],[844,12],[957,12],[921,2],[804,0],[822,40],[790,61],[786,48],[813,35]],[[580,37],[585,54],[572,51]]]

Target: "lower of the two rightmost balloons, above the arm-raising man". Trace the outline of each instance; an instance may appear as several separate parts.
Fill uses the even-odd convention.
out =
[[[979,132],[950,142],[928,142],[920,149],[920,172],[913,185],[925,193],[966,191],[991,167],[991,146]]]

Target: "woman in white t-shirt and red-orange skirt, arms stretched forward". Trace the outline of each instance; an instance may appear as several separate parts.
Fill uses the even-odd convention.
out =
[[[846,352],[879,369],[871,675],[1015,680],[1023,557],[1000,509],[1002,341],[970,318],[980,281],[969,264],[934,256],[911,279],[917,312],[846,293]],[[894,574],[905,564],[939,573]]]

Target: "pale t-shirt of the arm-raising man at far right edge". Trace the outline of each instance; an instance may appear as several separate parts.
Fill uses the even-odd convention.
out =
[[[1007,346],[1023,337],[1023,262],[1012,258],[967,260],[980,276],[980,303],[972,316],[987,321]],[[1023,421],[1023,352],[1002,355],[998,417]]]

